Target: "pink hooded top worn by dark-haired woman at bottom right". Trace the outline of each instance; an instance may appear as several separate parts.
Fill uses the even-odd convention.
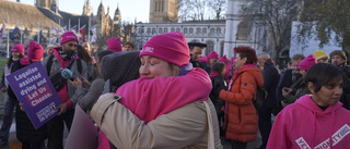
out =
[[[350,147],[350,111],[342,103],[323,111],[305,95],[276,117],[267,149],[347,149]]]

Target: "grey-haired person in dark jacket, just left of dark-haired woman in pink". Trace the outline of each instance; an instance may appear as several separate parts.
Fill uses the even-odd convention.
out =
[[[292,69],[287,70],[284,73],[281,74],[280,80],[278,83],[277,87],[277,100],[278,103],[281,101],[284,101],[285,99],[282,96],[282,89],[283,87],[289,87],[289,88],[300,88],[300,85],[303,80],[300,74],[300,67],[299,63],[304,60],[305,57],[301,53],[296,53],[292,57]]]

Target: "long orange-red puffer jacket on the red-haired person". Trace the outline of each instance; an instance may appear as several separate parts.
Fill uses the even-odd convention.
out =
[[[232,78],[231,89],[221,90],[219,98],[228,103],[224,128],[226,139],[242,142],[253,141],[258,132],[258,114],[253,104],[257,87],[262,87],[262,71],[244,67]]]

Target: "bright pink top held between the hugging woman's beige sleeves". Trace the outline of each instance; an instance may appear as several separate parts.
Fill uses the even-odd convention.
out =
[[[120,103],[147,124],[187,103],[207,100],[211,88],[207,72],[194,69],[184,76],[141,77],[124,84],[116,94]]]

